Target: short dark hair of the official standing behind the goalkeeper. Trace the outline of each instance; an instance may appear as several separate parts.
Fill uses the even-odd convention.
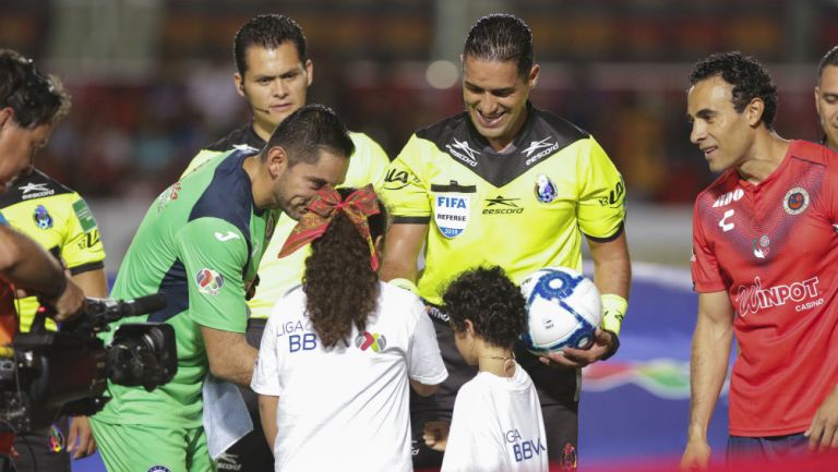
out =
[[[297,48],[300,62],[306,63],[306,35],[302,28],[288,16],[272,13],[256,15],[244,23],[232,38],[232,60],[242,76],[248,70],[248,48],[259,46],[266,49],[278,48],[283,43],[291,41]]]

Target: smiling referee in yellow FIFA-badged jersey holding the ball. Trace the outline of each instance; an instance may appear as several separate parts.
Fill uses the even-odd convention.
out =
[[[587,240],[604,308],[595,343],[540,359],[516,350],[538,389],[548,457],[575,470],[579,370],[616,351],[627,306],[625,186],[590,134],[529,102],[539,65],[522,20],[480,19],[462,62],[466,110],[417,131],[387,170],[382,192],[394,217],[382,278],[426,300],[450,374],[434,397],[411,399],[414,465],[441,463],[442,455],[422,440],[424,424],[450,421],[457,389],[476,374],[439,308],[445,285],[481,265],[500,265],[518,283],[546,266],[580,271]]]

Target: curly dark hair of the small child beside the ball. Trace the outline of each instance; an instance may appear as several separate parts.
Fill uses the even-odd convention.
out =
[[[493,346],[512,348],[527,329],[527,301],[499,266],[460,274],[442,301],[455,331],[465,330],[470,319],[475,335]]]

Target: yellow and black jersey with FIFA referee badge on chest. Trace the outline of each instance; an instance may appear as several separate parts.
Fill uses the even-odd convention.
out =
[[[382,195],[395,223],[429,223],[417,286],[434,304],[448,281],[481,265],[516,283],[546,266],[580,271],[583,234],[610,241],[625,217],[622,178],[594,137],[531,105],[504,153],[465,112],[418,131]]]

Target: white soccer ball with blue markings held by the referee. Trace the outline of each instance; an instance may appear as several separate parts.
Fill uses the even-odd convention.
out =
[[[585,349],[602,322],[602,301],[597,286],[565,267],[547,267],[520,283],[527,300],[527,332],[522,340],[536,355]]]

